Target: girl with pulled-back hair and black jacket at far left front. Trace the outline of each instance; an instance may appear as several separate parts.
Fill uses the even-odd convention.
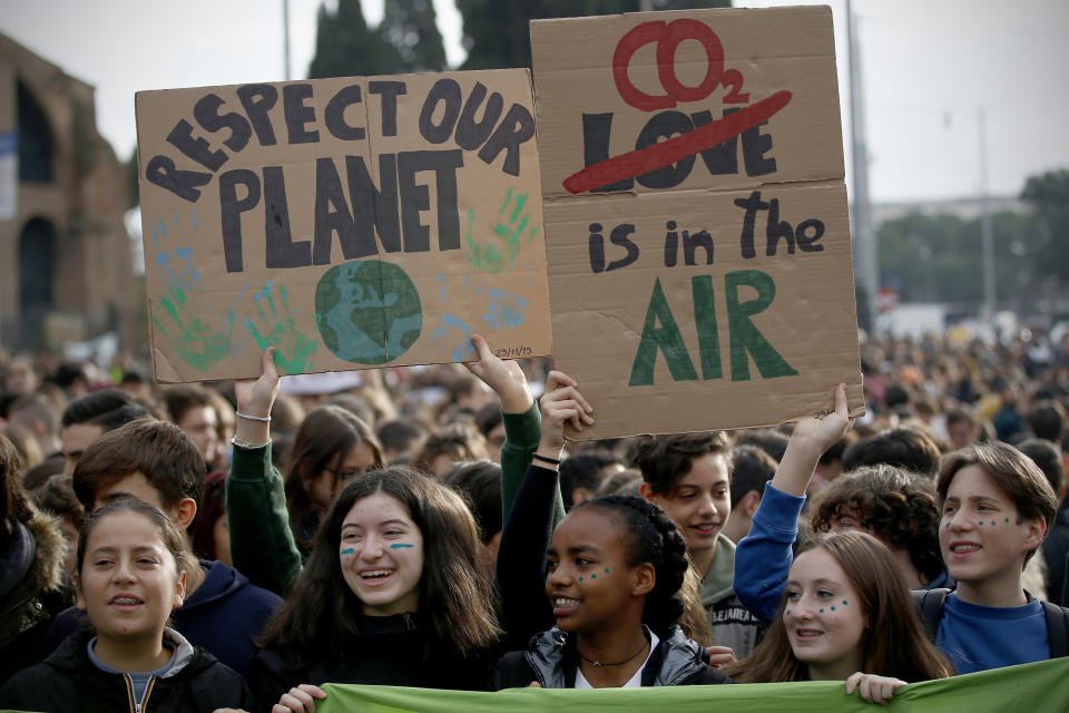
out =
[[[94,512],[78,544],[78,607],[92,628],[0,690],[0,707],[32,711],[214,711],[248,707],[242,677],[166,626],[182,606],[183,534],[154,506],[118,500]]]

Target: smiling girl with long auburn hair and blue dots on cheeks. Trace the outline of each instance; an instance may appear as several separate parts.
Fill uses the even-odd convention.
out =
[[[894,557],[856,531],[798,548],[764,641],[726,671],[743,683],[846,681],[847,694],[877,703],[908,681],[953,674],[924,636]]]

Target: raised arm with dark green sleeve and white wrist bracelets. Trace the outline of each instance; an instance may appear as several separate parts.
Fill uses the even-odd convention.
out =
[[[282,476],[271,462],[269,416],[278,395],[274,352],[274,346],[264,351],[258,379],[234,382],[237,431],[226,515],[234,567],[251,583],[286,596],[301,574],[301,553],[290,530]]]

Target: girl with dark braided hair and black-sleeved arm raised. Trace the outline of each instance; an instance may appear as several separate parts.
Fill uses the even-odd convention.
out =
[[[541,441],[498,555],[502,621],[519,651],[498,662],[496,687],[729,683],[678,625],[689,560],[664,510],[606,496],[577,506],[553,529],[563,424],[582,430],[594,419],[560,372],[549,374],[541,411]]]

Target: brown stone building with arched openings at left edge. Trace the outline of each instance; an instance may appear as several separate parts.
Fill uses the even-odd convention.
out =
[[[0,344],[139,341],[127,203],[94,88],[0,35]]]

